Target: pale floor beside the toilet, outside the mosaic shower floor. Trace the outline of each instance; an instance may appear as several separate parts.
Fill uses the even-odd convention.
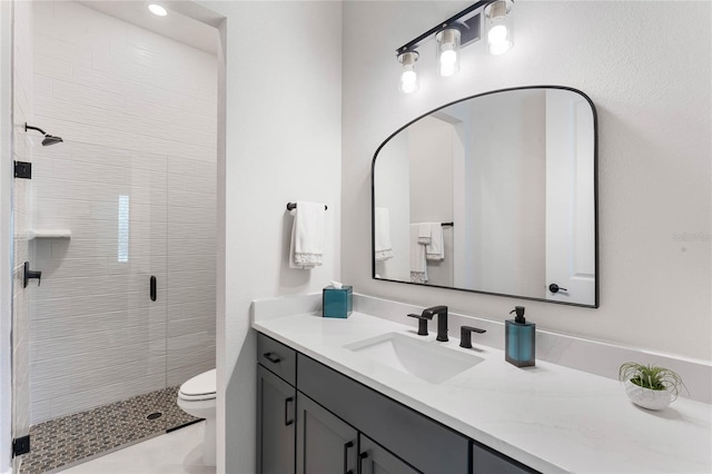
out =
[[[205,466],[200,462],[204,429],[205,422],[196,423],[57,472],[62,474],[215,474],[215,466]]]

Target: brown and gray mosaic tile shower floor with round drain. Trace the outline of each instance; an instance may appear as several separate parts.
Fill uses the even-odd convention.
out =
[[[179,387],[135,396],[30,428],[20,474],[42,474],[198,421],[176,404]],[[160,412],[156,419],[146,416]]]

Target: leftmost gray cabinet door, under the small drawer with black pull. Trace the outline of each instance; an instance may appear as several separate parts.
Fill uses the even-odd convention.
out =
[[[296,389],[257,365],[257,472],[294,473]]]

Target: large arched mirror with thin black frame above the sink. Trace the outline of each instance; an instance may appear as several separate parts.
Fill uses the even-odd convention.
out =
[[[505,89],[433,110],[378,147],[372,192],[374,278],[599,306],[583,92]]]

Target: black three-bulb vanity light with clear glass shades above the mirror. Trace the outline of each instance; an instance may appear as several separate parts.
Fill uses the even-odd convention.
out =
[[[417,49],[435,38],[439,75],[454,76],[459,70],[461,49],[482,38],[483,22],[486,29],[487,49],[492,55],[502,55],[514,45],[512,40],[513,0],[479,0],[454,17],[431,28],[419,37],[396,50],[403,65],[400,90],[411,93],[417,90],[415,62]]]

